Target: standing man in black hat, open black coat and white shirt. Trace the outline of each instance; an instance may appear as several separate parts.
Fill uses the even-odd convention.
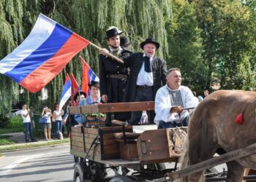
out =
[[[154,101],[157,90],[166,82],[166,62],[156,55],[160,44],[148,38],[140,43],[140,47],[143,52],[135,52],[124,59],[124,65],[131,69],[124,95],[126,102]],[[142,111],[132,112],[131,124],[138,124],[141,114]],[[151,124],[154,123],[154,115],[154,111],[148,112]]]

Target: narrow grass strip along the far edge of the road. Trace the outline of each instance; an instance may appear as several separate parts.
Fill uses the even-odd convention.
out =
[[[59,140],[59,141],[47,141],[47,142],[44,141],[44,142],[23,143],[19,145],[2,146],[0,147],[0,152],[15,151],[19,149],[29,149],[29,148],[35,148],[35,147],[38,148],[40,146],[54,146],[61,143],[69,143],[69,142],[70,142],[69,138],[65,138],[64,140]]]

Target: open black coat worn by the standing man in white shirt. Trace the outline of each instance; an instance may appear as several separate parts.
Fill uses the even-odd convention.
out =
[[[127,89],[124,95],[124,102],[133,102],[135,101],[135,93],[136,93],[136,82],[137,77],[140,72],[140,68],[143,65],[143,53],[135,52],[130,55],[128,58],[124,59],[124,65],[129,66],[131,69],[128,82]],[[162,87],[162,85],[166,84],[166,62],[162,58],[154,56],[152,60],[152,72],[153,72],[153,82],[154,82],[154,97],[157,94],[157,90]]]

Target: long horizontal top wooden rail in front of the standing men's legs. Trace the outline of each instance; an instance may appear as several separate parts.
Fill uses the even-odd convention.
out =
[[[89,106],[70,106],[69,114],[114,113],[125,111],[153,111],[154,101],[131,103],[104,103]]]

